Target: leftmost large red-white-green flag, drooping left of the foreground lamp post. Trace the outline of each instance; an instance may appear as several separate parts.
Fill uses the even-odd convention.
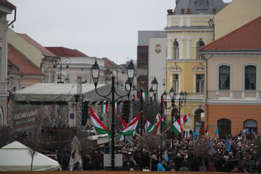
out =
[[[108,133],[109,136],[111,136],[111,130],[107,129],[107,127],[103,124],[103,122],[100,122],[100,119],[97,117],[96,113],[94,113],[94,110],[92,110],[91,106],[89,106],[90,113],[91,113],[91,121],[94,124],[94,128],[97,133]]]

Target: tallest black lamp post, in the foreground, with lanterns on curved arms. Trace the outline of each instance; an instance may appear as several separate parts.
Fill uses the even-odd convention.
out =
[[[130,90],[131,90],[131,86],[132,86],[133,78],[134,78],[134,73],[135,73],[135,67],[133,65],[132,60],[130,61],[130,64],[128,64],[128,67],[126,69],[127,69],[128,81],[130,82]],[[112,171],[113,171],[114,166],[115,166],[115,161],[114,161],[115,160],[115,154],[114,154],[114,151],[115,151],[115,142],[114,142],[114,139],[115,139],[115,137],[114,137],[115,136],[115,120],[114,120],[114,117],[115,116],[114,116],[114,109],[113,108],[114,108],[115,102],[117,102],[118,99],[121,99],[124,96],[128,96],[130,94],[130,90],[128,91],[128,94],[126,94],[124,96],[117,94],[115,87],[114,87],[115,77],[112,75],[112,88],[111,88],[110,92],[107,95],[99,94],[98,91],[97,91],[99,73],[100,73],[100,67],[98,66],[97,61],[95,60],[95,63],[91,67],[91,75],[92,75],[92,78],[94,80],[96,94],[98,94],[98,96],[102,96],[105,99],[107,99],[108,101],[110,101],[110,103],[112,105],[112,123],[111,123],[111,126],[112,126]],[[112,95],[111,99],[108,97],[110,94]],[[119,96],[118,99],[115,99],[115,94],[117,94],[117,96]]]

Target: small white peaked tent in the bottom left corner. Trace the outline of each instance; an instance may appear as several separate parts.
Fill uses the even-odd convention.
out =
[[[33,157],[33,171],[57,171],[59,163],[43,154]],[[0,149],[0,171],[30,171],[31,157],[28,147],[14,141]]]

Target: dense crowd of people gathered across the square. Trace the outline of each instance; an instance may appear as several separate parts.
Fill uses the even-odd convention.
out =
[[[71,147],[70,142],[75,136],[74,127],[42,127],[40,138],[49,143],[50,151],[57,154],[56,160],[61,164],[64,171],[68,168]],[[144,139],[146,141],[146,139]],[[68,143],[64,143],[68,142]],[[261,173],[261,139],[259,136],[248,136],[241,140],[238,136],[227,136],[227,138],[214,138],[207,143],[204,136],[193,138],[165,138],[163,147],[160,145],[154,150],[144,148],[142,156],[140,152],[140,137],[126,138],[116,141],[115,154],[122,154],[122,166],[115,167],[121,171],[209,171],[209,172],[234,172],[234,173]],[[228,148],[228,143],[230,147]],[[62,148],[61,148],[62,147]],[[199,147],[207,149],[204,154]],[[162,151],[161,151],[162,150]],[[103,154],[110,153],[110,144],[94,145],[89,152],[82,154],[82,165],[75,164],[73,170],[110,170],[103,166]]]

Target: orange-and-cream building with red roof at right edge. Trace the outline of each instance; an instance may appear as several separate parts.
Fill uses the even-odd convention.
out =
[[[261,133],[261,16],[202,48],[209,135]]]

